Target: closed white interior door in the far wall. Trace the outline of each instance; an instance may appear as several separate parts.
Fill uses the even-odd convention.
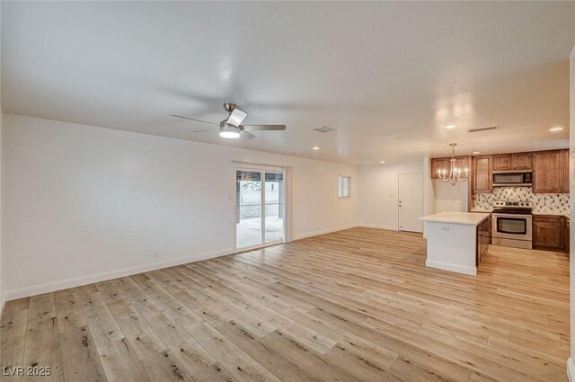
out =
[[[423,232],[423,174],[399,174],[399,230]]]

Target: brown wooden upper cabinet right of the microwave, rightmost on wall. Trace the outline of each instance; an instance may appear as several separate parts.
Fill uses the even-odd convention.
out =
[[[538,151],[533,153],[533,192],[564,192],[564,161],[564,150]]]

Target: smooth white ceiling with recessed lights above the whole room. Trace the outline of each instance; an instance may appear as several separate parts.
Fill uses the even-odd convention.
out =
[[[3,2],[2,106],[349,164],[567,147],[574,44],[574,2]],[[288,129],[168,116],[218,122],[223,102]]]

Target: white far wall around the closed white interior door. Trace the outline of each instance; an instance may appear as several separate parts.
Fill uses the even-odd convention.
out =
[[[361,183],[359,223],[361,226],[397,229],[397,191],[400,173],[424,173],[423,162],[359,167]]]

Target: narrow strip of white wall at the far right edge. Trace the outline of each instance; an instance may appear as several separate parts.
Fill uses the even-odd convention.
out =
[[[569,275],[570,275],[570,289],[571,289],[571,357],[567,360],[567,374],[571,382],[575,382],[575,365],[573,364],[573,357],[575,357],[575,47],[571,51],[571,79],[570,79],[570,120],[571,125],[569,129],[570,140],[570,200],[571,200],[571,232],[570,244],[571,253],[569,256]]]

